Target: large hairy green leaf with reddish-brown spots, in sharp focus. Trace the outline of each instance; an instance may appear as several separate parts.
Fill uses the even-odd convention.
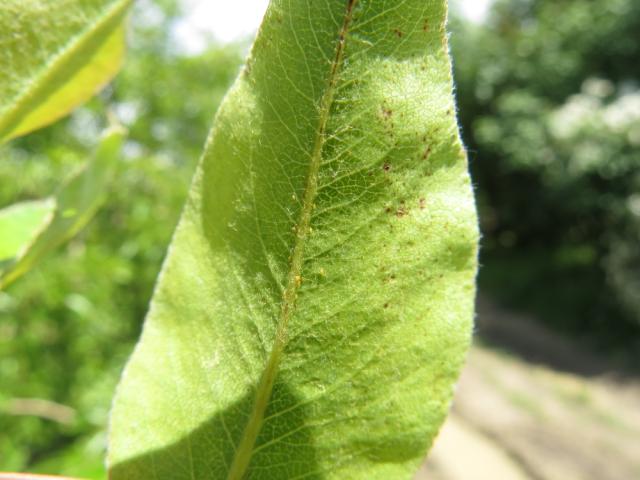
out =
[[[410,478],[469,345],[444,0],[272,0],[116,394],[112,480]]]

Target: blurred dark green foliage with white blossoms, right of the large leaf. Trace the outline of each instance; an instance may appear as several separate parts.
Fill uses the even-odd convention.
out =
[[[481,286],[629,356],[640,351],[638,32],[637,0],[502,0],[453,35]]]

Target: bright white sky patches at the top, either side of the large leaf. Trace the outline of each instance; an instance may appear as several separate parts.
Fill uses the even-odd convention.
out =
[[[202,51],[213,36],[221,42],[232,42],[255,33],[269,0],[182,0],[189,12],[179,22],[174,35],[190,53]],[[492,0],[455,0],[463,14],[474,22],[482,22]]]

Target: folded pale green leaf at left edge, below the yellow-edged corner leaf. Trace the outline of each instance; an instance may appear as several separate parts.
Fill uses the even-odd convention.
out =
[[[122,127],[110,127],[91,161],[54,198],[0,211],[0,289],[29,271],[91,220],[104,200],[124,135]]]

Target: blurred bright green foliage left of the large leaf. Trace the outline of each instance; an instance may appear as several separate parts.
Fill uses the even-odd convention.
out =
[[[105,475],[111,397],[211,119],[241,63],[237,46],[197,56],[176,49],[179,14],[173,2],[138,3],[112,86],[67,120],[0,150],[0,205],[8,205],[55,190],[82,165],[108,112],[130,130],[97,217],[0,292],[0,470]]]

